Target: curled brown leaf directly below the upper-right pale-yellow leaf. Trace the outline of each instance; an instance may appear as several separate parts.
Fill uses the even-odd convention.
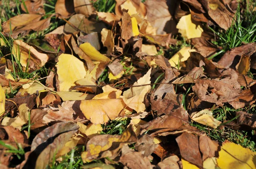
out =
[[[215,54],[216,51],[220,50],[217,45],[212,44],[204,37],[198,37],[191,39],[191,45],[204,57]]]

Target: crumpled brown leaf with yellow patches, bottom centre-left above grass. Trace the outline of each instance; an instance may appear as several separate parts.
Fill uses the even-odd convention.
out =
[[[122,146],[136,141],[137,136],[131,126],[122,135],[96,135],[87,142],[86,151],[82,152],[81,158],[84,163],[105,157],[113,159]]]

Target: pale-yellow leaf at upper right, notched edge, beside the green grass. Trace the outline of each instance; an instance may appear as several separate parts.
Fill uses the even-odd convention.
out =
[[[176,28],[179,29],[179,33],[187,39],[201,37],[204,31],[199,25],[199,22],[192,22],[191,14],[181,17]]]

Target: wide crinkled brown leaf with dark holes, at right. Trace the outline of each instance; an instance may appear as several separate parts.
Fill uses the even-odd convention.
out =
[[[242,92],[241,89],[236,89],[232,85],[208,79],[195,79],[192,89],[200,100],[218,105],[235,100]]]

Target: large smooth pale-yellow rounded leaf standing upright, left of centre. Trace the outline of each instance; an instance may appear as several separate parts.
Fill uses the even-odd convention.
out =
[[[84,63],[70,54],[61,54],[57,62],[57,74],[60,91],[68,91],[75,82],[86,75]]]

